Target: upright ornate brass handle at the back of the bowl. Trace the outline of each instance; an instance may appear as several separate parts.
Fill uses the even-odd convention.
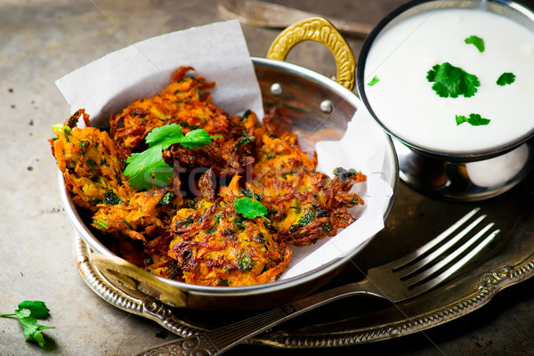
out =
[[[284,61],[295,44],[306,40],[317,41],[328,47],[336,60],[336,82],[352,90],[356,72],[354,54],[334,25],[322,17],[301,20],[284,29],[272,42],[267,58]]]

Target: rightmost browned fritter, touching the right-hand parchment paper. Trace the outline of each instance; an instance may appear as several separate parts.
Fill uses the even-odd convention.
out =
[[[263,117],[255,137],[253,179],[247,188],[263,197],[279,242],[310,245],[352,223],[348,209],[363,200],[351,189],[366,180],[364,174],[340,168],[330,179],[317,172],[317,158],[308,157],[295,134],[281,132],[270,117]]]

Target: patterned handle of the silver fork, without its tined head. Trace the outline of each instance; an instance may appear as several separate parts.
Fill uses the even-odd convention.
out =
[[[311,311],[321,305],[334,302],[349,295],[380,295],[369,279],[344,286],[334,287],[314,295],[307,296],[293,303],[288,303],[279,308],[271,309],[252,318],[238,321],[223,328],[216,328],[194,336],[184,337],[160,344],[138,354],[138,356],[153,356],[159,354],[168,355],[218,355],[233,346],[240,344],[252,336],[275,327],[295,316]],[[185,353],[187,352],[187,353]]]

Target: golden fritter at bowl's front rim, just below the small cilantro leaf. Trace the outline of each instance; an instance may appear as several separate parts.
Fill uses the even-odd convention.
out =
[[[178,261],[188,283],[249,286],[274,281],[291,261],[291,250],[279,245],[264,218],[246,219],[233,202],[242,197],[239,176],[214,202],[200,199],[194,209],[174,216],[169,255]]]

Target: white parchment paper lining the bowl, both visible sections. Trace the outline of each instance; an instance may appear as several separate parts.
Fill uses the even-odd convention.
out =
[[[262,93],[237,20],[132,44],[73,71],[56,85],[72,112],[83,108],[94,125],[101,125],[132,101],[163,90],[180,66],[194,67],[192,75],[214,81],[212,101],[230,115],[252,109],[263,117]],[[392,188],[382,179],[385,145],[383,132],[363,107],[352,117],[341,141],[317,144],[321,172],[332,173],[341,166],[368,175],[368,182],[356,187],[365,205],[353,208],[358,220],[335,237],[309,247],[292,247],[293,262],[281,279],[344,258],[384,228],[384,210],[392,197]]]

